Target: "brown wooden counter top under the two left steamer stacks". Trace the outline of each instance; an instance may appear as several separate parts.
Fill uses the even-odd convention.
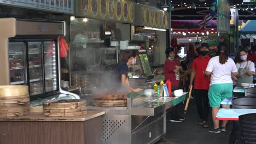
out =
[[[43,113],[30,113],[30,115],[20,116],[20,117],[0,117],[0,122],[15,122],[15,121],[48,121],[48,122],[78,122],[78,121],[88,121],[89,119],[102,116],[105,111],[102,110],[88,110],[86,115],[74,116],[74,117],[45,117]]]

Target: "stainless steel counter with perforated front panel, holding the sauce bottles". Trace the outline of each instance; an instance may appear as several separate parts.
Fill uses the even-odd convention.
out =
[[[127,107],[88,106],[105,110],[102,143],[155,143],[165,136],[166,110],[188,98],[187,92],[181,97],[146,97],[143,93],[129,94]]]

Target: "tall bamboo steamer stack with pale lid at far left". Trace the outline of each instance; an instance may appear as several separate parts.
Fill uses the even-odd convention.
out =
[[[0,117],[30,114],[28,86],[0,86]]]

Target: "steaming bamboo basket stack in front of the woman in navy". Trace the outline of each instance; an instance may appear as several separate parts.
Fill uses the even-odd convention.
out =
[[[124,107],[127,106],[129,93],[108,91],[106,93],[94,93],[92,105],[103,107]]]

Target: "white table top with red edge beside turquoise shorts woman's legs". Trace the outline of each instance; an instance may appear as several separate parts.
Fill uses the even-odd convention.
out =
[[[256,109],[219,109],[216,119],[238,121],[238,117],[248,113],[256,113]]]

